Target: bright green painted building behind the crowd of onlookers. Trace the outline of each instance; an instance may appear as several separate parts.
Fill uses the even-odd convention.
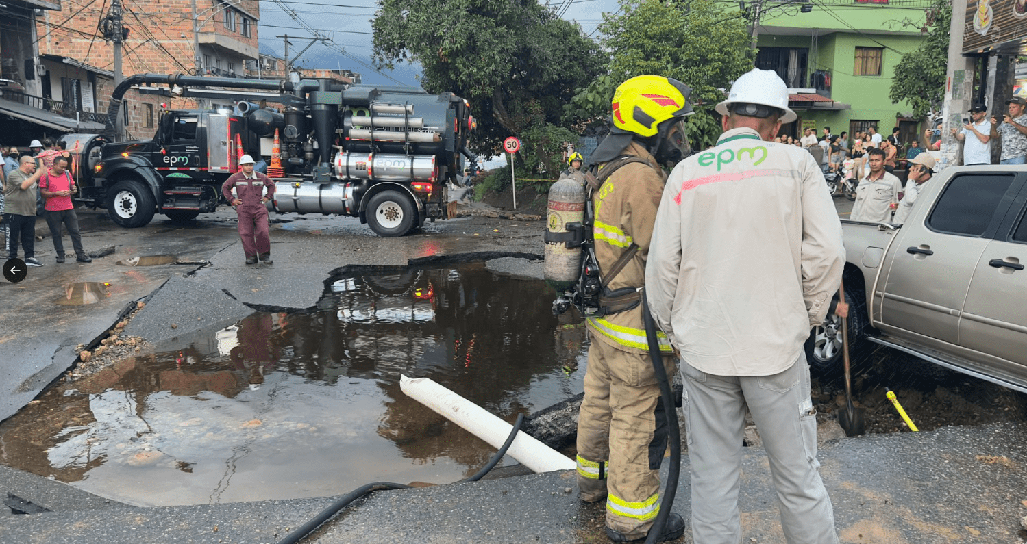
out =
[[[759,1],[759,0],[757,0]],[[799,119],[782,129],[838,134],[875,126],[883,137],[893,126],[902,142],[919,139],[920,119],[906,103],[888,99],[895,67],[916,49],[929,0],[815,0],[766,2],[759,6],[756,66],[775,70],[791,90]]]

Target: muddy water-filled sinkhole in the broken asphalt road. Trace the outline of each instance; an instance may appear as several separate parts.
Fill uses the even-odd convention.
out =
[[[334,277],[315,311],[257,312],[59,384],[0,426],[0,462],[137,505],[452,482],[495,450],[400,375],[507,422],[573,396],[584,328],[553,299],[484,264]]]

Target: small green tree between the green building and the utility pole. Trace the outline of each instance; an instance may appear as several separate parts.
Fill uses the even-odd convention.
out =
[[[927,9],[926,21],[920,27],[920,32],[924,33],[926,39],[915,50],[904,54],[896,66],[888,98],[892,104],[909,102],[913,108],[913,117],[925,117],[931,109],[941,109],[945,94],[951,20],[951,2],[935,0]]]

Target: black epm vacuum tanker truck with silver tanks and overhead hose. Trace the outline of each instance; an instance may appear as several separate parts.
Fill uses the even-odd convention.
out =
[[[231,91],[233,110],[163,110],[152,138],[122,141],[115,118],[132,87],[222,101],[225,90],[207,87],[242,90]],[[450,216],[449,183],[473,159],[466,144],[474,127],[466,101],[449,92],[141,74],[115,88],[103,134],[64,140],[79,165],[77,200],[106,207],[122,227],[156,213],[191,220],[215,211],[244,153],[277,159],[267,171],[275,182],[269,211],[351,216],[380,236],[402,236]]]

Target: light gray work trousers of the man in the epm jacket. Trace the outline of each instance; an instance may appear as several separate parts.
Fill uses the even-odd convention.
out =
[[[738,544],[738,477],[748,404],[770,460],[781,524],[789,544],[837,544],[834,512],[816,461],[816,411],[805,355],[771,376],[715,376],[681,363],[692,540]]]

